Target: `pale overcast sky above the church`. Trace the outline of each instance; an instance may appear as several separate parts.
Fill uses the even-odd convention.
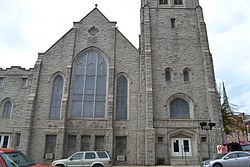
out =
[[[186,0],[188,1],[188,0]],[[98,4],[138,47],[140,0],[0,0],[0,68],[32,68],[45,52]],[[238,112],[250,114],[250,0],[200,0],[217,84]]]

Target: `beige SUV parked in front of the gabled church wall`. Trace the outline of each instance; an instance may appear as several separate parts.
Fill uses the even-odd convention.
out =
[[[67,159],[53,161],[52,165],[60,167],[112,167],[112,159],[107,151],[80,151]]]

